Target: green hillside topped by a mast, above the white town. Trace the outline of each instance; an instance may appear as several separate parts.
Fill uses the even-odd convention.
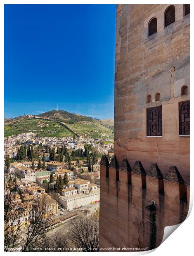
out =
[[[108,119],[111,120],[111,119]],[[34,132],[37,137],[65,137],[89,135],[92,138],[113,139],[113,130],[100,120],[89,116],[72,114],[67,111],[48,111],[33,116],[19,116],[5,119],[4,136]],[[107,121],[108,122],[108,121]]]

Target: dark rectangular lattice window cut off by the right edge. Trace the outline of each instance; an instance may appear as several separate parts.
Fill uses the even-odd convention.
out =
[[[179,103],[179,135],[190,134],[190,102]]]

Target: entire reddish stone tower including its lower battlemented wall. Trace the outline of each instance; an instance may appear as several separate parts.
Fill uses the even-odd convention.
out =
[[[114,158],[102,157],[99,247],[154,249],[189,198],[189,5],[118,5]]]

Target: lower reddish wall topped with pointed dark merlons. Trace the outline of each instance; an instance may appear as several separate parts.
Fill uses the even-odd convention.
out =
[[[141,161],[131,168],[127,159],[100,163],[100,248],[148,247],[162,241],[165,226],[185,220],[189,183],[185,185],[176,166],[163,177],[152,163],[146,172]]]

